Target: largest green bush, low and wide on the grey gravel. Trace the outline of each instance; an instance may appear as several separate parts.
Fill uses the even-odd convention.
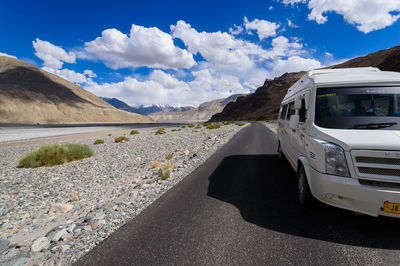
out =
[[[36,168],[53,166],[91,157],[93,150],[83,144],[54,144],[45,145],[23,157],[19,168]]]

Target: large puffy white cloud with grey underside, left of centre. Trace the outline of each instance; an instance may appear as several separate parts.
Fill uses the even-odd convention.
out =
[[[174,45],[170,34],[156,27],[132,25],[129,35],[107,29],[101,37],[86,42],[80,57],[98,59],[112,69],[120,68],[191,68],[192,54]]]

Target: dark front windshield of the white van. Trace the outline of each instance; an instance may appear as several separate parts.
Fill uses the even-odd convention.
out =
[[[318,88],[315,124],[338,129],[400,129],[400,87]]]

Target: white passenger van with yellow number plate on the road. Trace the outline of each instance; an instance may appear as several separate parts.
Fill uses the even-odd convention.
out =
[[[400,217],[400,73],[313,70],[279,111],[278,152],[314,198],[368,215]]]

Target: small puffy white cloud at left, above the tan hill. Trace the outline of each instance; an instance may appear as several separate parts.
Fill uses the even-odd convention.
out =
[[[43,66],[59,69],[63,63],[75,63],[75,54],[67,53],[63,48],[51,44],[47,41],[42,41],[38,38],[32,41],[35,55],[43,60]]]

